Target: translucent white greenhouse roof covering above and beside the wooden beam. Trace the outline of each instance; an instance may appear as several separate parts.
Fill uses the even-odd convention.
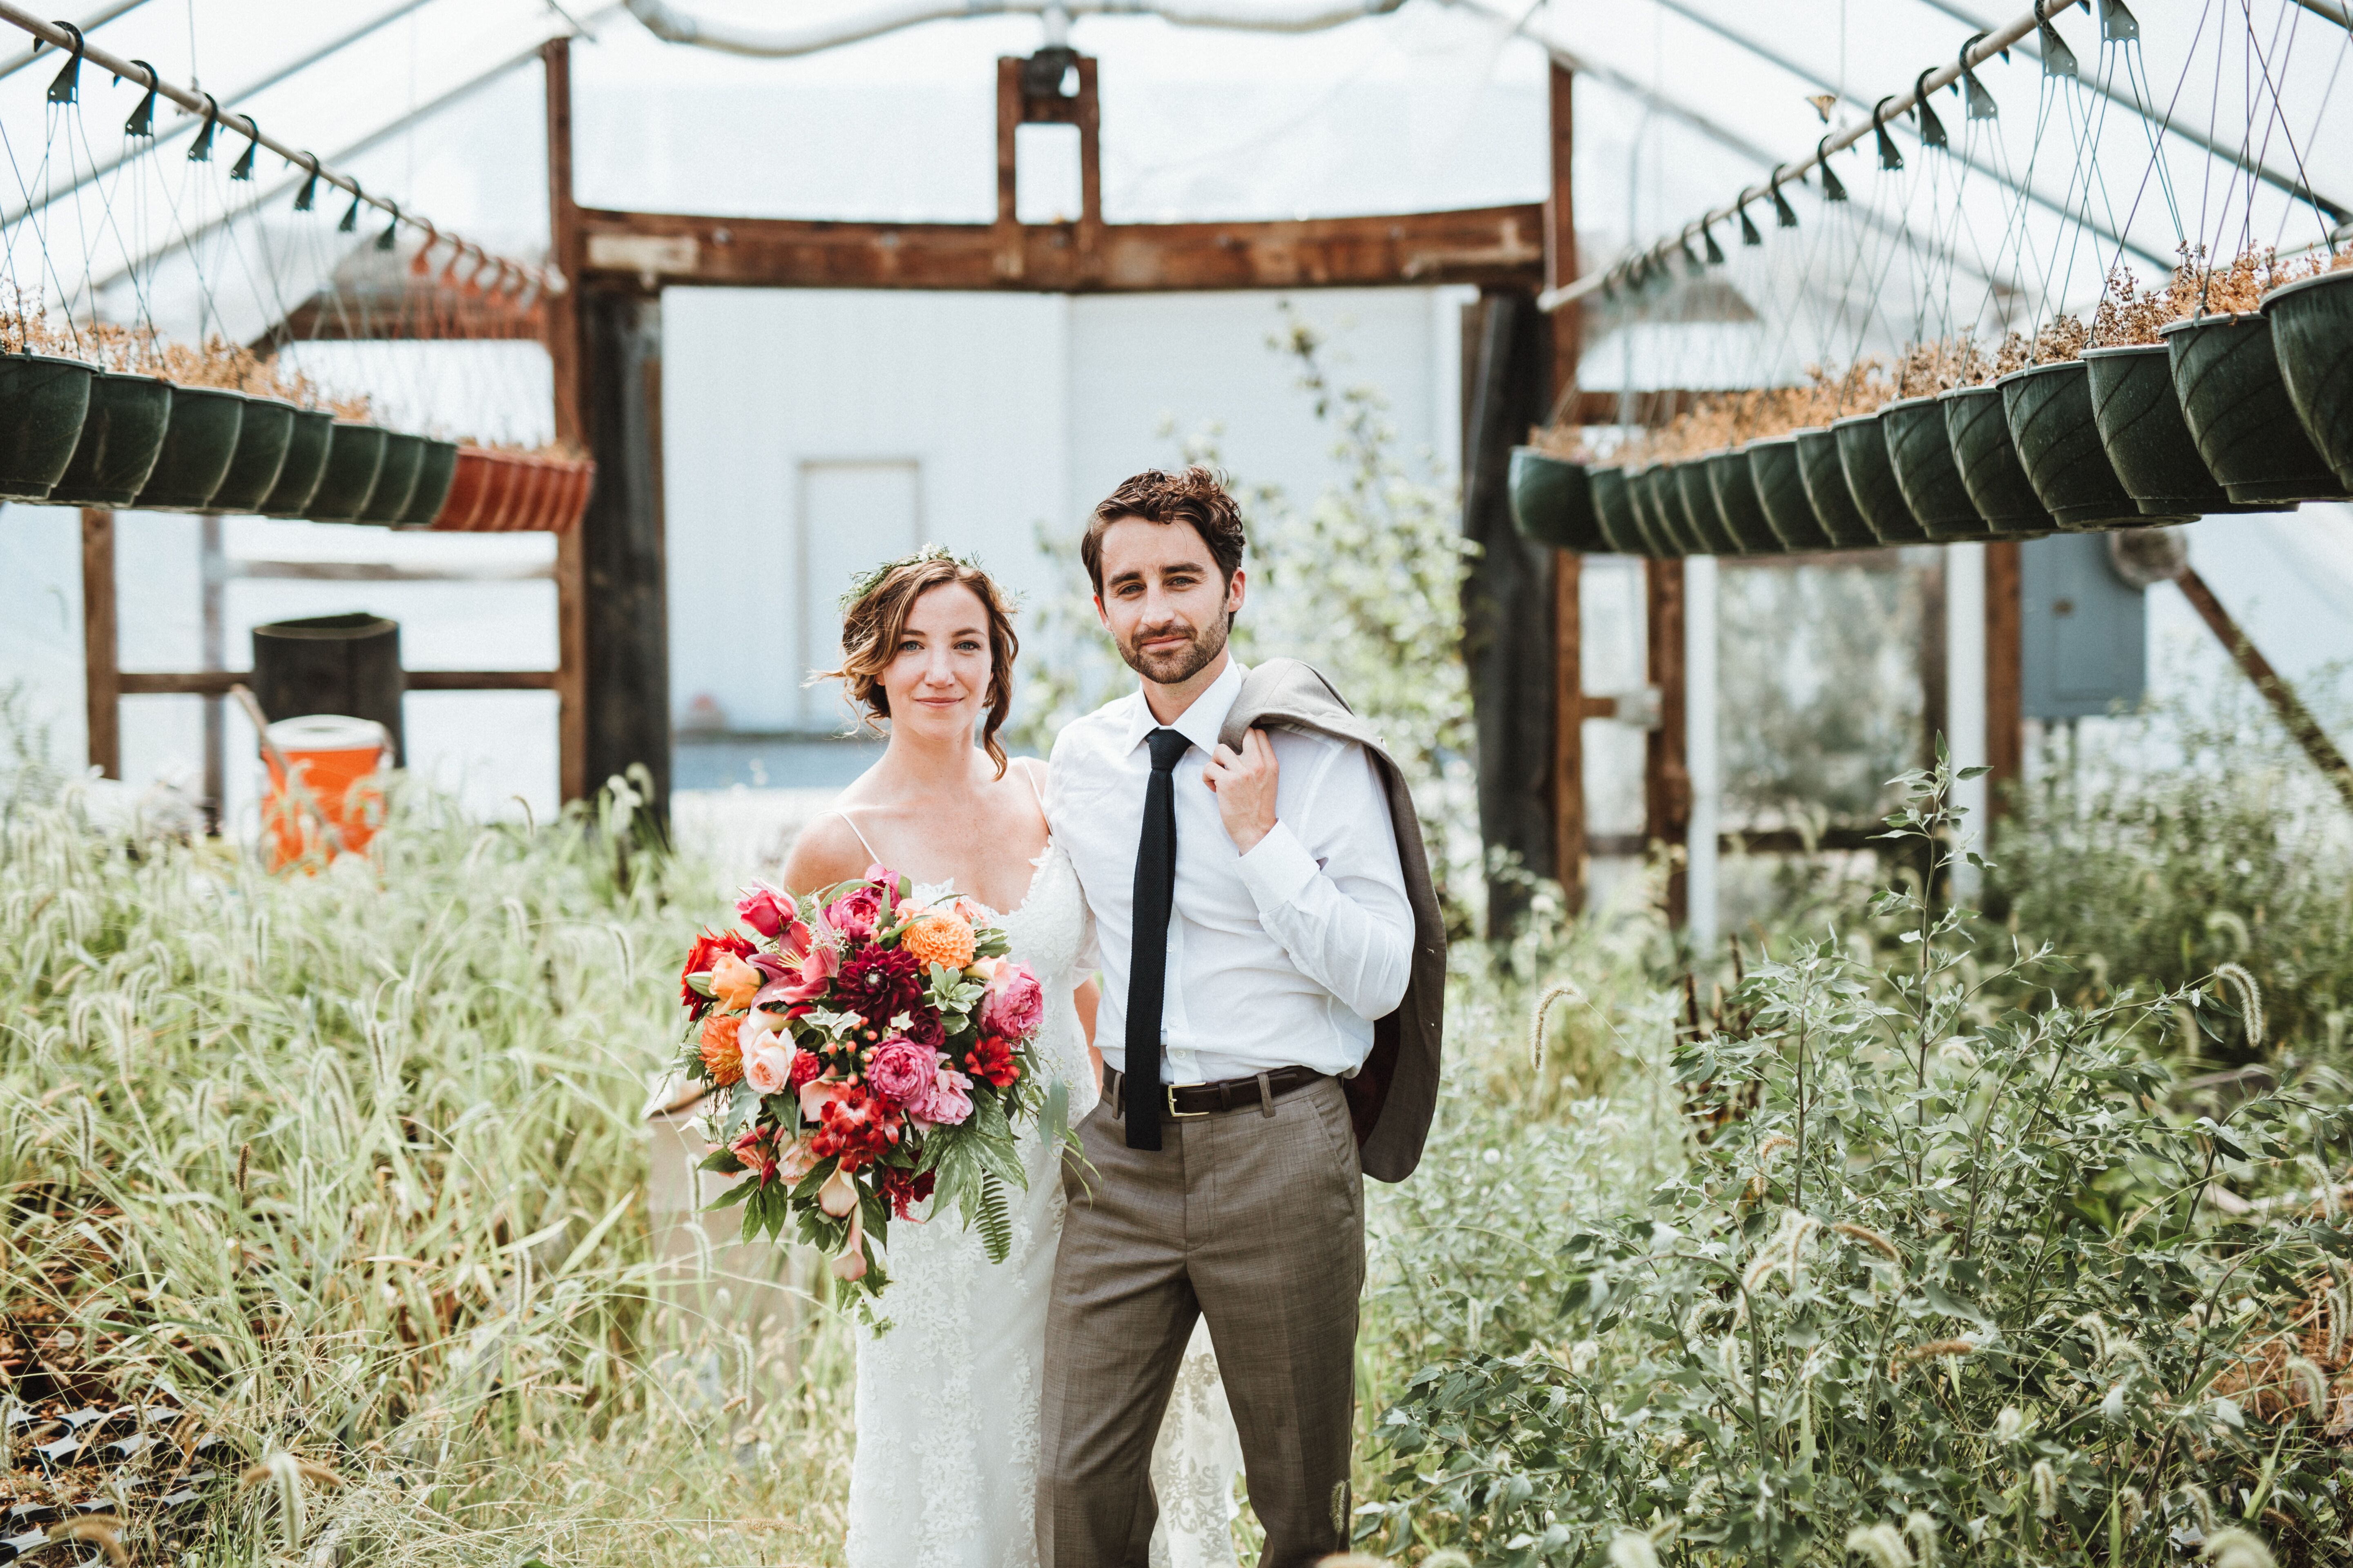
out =
[[[1774,162],[1866,122],[1875,101],[1908,92],[2009,12],[1988,0],[1372,0],[1355,9],[1374,14],[1280,33],[1092,14],[1151,12],[1153,0],[1073,0],[1068,38],[1101,59],[1104,207],[1115,223],[1541,200],[1546,54],[1579,66],[1574,179],[1588,266],[1673,240],[1744,190],[1762,240],[1739,244],[1732,221],[1694,235],[1694,252],[1708,240],[1727,252],[1715,292],[1649,299],[1633,317],[1605,310],[1588,381],[1729,386],[2087,310],[2108,268],[2122,261],[2151,280],[2184,242],[2224,259],[2247,244],[2320,242],[2353,212],[2353,85],[2341,82],[2353,42],[2327,16],[2344,2],[2068,7],[2052,28],[2073,78],[2047,73],[2038,54],[2049,49],[2028,35],[1977,71],[1993,118],[1939,92],[1946,150],[1929,150],[1904,118],[1889,127],[1904,167],[1882,169],[1866,134],[1833,158],[1852,200],[1824,200],[1819,176],[1786,186],[1795,228],[1774,223],[1762,193]],[[856,33],[913,9],[633,7],[748,33]],[[788,59],[664,42],[631,9],[588,0],[113,0],[96,14],[120,14],[89,40],[252,113],[405,212],[539,259],[539,40],[581,31],[576,183],[588,205],[988,221],[993,59],[1047,38],[1035,9],[972,0],[969,16]],[[1198,14],[1202,0],[1162,9]],[[1212,9],[1245,21],[1348,12],[1306,0]],[[2137,38],[2106,38],[2122,31]],[[0,200],[19,289],[238,336],[384,228],[381,214],[365,214],[339,230],[348,197],[332,193],[292,212],[301,169],[273,155],[259,158],[252,183],[231,181],[245,143],[226,125],[219,153],[191,162],[198,118],[169,103],[153,148],[125,160],[146,146],[122,134],[139,87],[85,68],[78,103],[47,103],[59,63],[45,49],[0,80]],[[2160,120],[2172,129],[2160,134]],[[1045,155],[1035,176],[1028,167],[1026,216],[1075,207],[1075,176]],[[2280,183],[2306,186],[2327,212]],[[1605,343],[1619,324],[1626,331]]]

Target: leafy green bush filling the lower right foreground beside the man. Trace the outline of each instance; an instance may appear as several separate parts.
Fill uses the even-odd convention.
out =
[[[1951,842],[1953,783],[1906,776],[1892,835]],[[1482,1267],[1508,1286],[1487,1321],[1466,1291],[1471,1321],[1379,1415],[1362,1547],[2165,1563],[2261,1552],[2252,1533],[2346,1561],[2339,1086],[2172,1110],[2148,1025],[2252,1020],[2242,978],[2235,1009],[2205,987],[2068,1006],[2066,964],[1974,947],[1965,910],[1897,891],[1873,914],[1906,922],[1904,966],[1795,943],[1722,1030],[1678,1034],[1694,1133],[1647,1201],[1551,1215],[1489,1175],[1511,1213]],[[2306,1190],[2257,1192],[2282,1180]],[[1393,1267],[1412,1286],[1419,1262]]]

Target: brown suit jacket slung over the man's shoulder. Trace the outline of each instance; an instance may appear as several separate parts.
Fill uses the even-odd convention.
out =
[[[1438,889],[1431,884],[1431,860],[1421,849],[1421,818],[1405,776],[1381,748],[1379,736],[1351,712],[1332,682],[1299,658],[1268,658],[1242,677],[1242,693],[1226,715],[1219,743],[1242,750],[1252,729],[1306,729],[1341,741],[1355,741],[1372,755],[1381,792],[1388,795],[1388,818],[1398,832],[1398,863],[1405,867],[1405,898],[1414,907],[1414,969],[1405,983],[1405,1001],[1372,1025],[1372,1056],[1365,1067],[1344,1079],[1348,1117],[1355,1121],[1355,1145],[1365,1175],[1402,1182],[1421,1164],[1421,1140],[1438,1110],[1438,1048],[1447,1011],[1447,929],[1438,917]]]

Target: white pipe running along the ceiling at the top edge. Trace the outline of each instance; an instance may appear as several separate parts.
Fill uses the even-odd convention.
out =
[[[1221,5],[1219,0],[878,0],[856,16],[805,28],[732,28],[704,21],[666,0],[626,0],[628,14],[664,42],[788,59],[838,49],[925,21],[969,16],[1160,16],[1188,28],[1235,28],[1247,33],[1318,33],[1362,16],[1386,16],[1405,0],[1282,0],[1280,5]]]

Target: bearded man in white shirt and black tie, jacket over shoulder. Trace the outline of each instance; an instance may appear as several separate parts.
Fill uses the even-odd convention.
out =
[[[1261,1568],[1348,1537],[1362,1175],[1438,1098],[1445,931],[1395,764],[1308,665],[1242,670],[1242,517],[1205,468],[1087,524],[1144,677],[1061,731],[1052,827],[1094,912],[1104,1100],[1047,1319],[1045,1568],[1146,1568],[1148,1467],[1193,1319],[1242,1439]],[[1264,726],[1264,729],[1261,729]]]

